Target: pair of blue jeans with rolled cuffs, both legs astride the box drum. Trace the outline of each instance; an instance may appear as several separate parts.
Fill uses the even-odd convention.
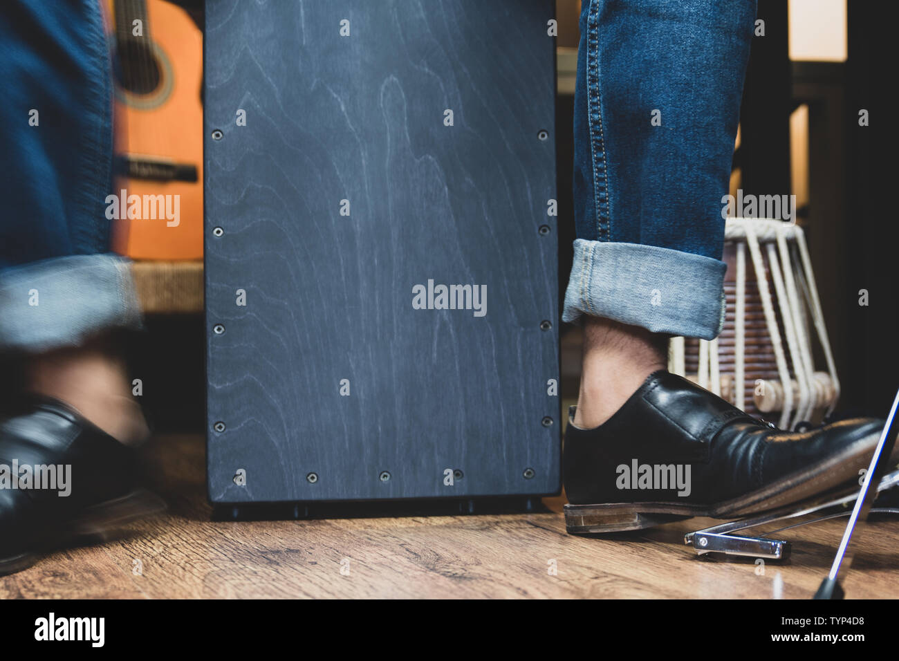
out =
[[[720,331],[721,197],[754,14],[754,0],[583,0],[565,320]],[[0,5],[0,350],[139,324],[128,264],[106,254],[110,70],[98,0]]]

